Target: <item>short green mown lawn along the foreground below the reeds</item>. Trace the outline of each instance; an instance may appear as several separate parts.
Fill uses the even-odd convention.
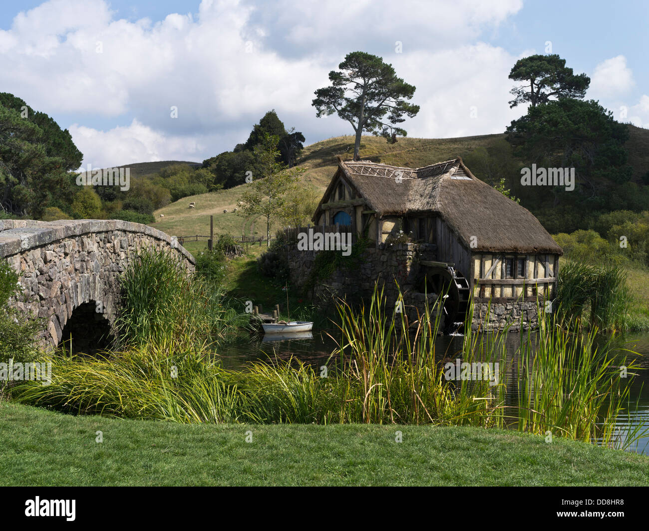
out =
[[[102,443],[95,442],[97,430]],[[649,484],[649,458],[481,428],[179,425],[3,402],[0,483],[624,486]]]

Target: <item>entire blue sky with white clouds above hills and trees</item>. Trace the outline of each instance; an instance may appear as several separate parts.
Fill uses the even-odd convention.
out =
[[[534,53],[649,128],[648,27],[646,0],[3,0],[0,92],[68,129],[84,167],[202,162],[271,109],[306,144],[353,134],[311,102],[358,50],[417,87],[408,136],[503,132],[526,112],[509,71]]]

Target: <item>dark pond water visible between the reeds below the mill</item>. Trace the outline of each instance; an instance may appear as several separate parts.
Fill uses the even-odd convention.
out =
[[[333,332],[329,332],[334,337],[337,337]],[[462,336],[438,336],[435,340],[435,350],[439,352],[441,358],[454,359],[456,354],[462,348]],[[602,342],[606,338],[602,338]],[[626,334],[626,336],[617,338],[615,340],[615,347],[619,349],[631,349],[643,357],[639,358],[638,363],[643,367],[643,371],[639,371],[639,375],[633,379],[631,384],[631,409],[635,409],[637,403],[637,411],[624,412],[618,417],[617,428],[620,434],[628,432],[628,429],[635,426],[641,426],[649,430],[649,333],[639,334]],[[512,357],[519,346],[519,334],[510,333],[506,338],[506,349],[508,357]],[[269,336],[265,340],[260,336],[252,336],[251,341],[236,343],[234,345],[227,345],[219,349],[223,366],[227,369],[241,369],[243,365],[249,362],[267,361],[270,358],[277,358],[278,360],[288,361],[291,356],[297,358],[301,362],[311,364],[314,367],[325,365],[333,352],[337,349],[336,341],[328,335],[326,331],[313,332],[313,337],[310,339],[297,339],[297,340],[280,340],[269,341]],[[511,371],[508,371],[511,377]],[[509,387],[515,382],[509,381]],[[515,393],[509,393],[511,402],[508,400],[508,405],[514,405]],[[623,435],[620,435],[623,437]],[[644,435],[643,438],[633,443],[628,451],[649,454],[649,433]]]

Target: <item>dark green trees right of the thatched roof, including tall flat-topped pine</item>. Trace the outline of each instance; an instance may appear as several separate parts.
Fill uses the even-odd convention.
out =
[[[509,79],[520,84],[510,105],[529,105],[511,122],[506,138],[524,166],[574,168],[576,186],[521,186],[520,173],[512,188],[550,232],[594,228],[602,214],[625,208],[649,208],[649,193],[631,182],[632,168],[624,143],[629,128],[597,101],[584,101],[590,84],[574,74],[558,55],[532,55],[516,62]],[[513,177],[513,176],[512,176]]]

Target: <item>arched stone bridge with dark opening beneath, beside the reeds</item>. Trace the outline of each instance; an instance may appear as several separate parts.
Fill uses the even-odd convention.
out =
[[[119,275],[137,249],[175,249],[193,271],[191,254],[164,232],[119,220],[1,220],[0,258],[21,273],[13,305],[45,319],[42,347],[72,341],[73,351],[108,348],[119,306]],[[70,348],[69,345],[66,345]]]

